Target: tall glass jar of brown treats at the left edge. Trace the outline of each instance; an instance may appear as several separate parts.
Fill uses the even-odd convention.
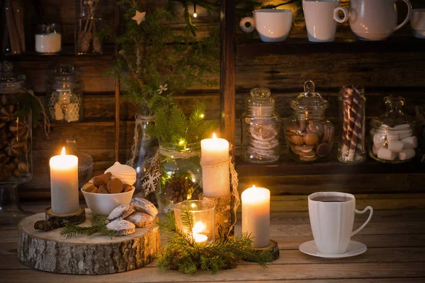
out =
[[[10,62],[0,63],[1,225],[17,224],[26,216],[19,207],[17,186],[33,178],[31,112],[19,109],[26,93],[25,80],[25,75],[13,74]]]

